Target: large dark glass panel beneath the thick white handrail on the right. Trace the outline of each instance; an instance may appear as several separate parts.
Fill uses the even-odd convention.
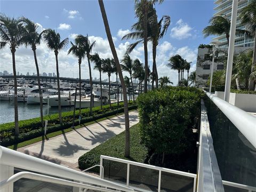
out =
[[[256,187],[256,149],[207,96],[205,106],[222,180]]]

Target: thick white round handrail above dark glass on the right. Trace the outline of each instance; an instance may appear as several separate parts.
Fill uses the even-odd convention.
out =
[[[246,111],[216,97],[214,94],[206,92],[206,95],[222,111],[223,114],[237,127],[237,129],[256,148],[256,117]]]

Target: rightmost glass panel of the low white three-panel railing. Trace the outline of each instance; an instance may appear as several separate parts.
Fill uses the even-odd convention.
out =
[[[162,192],[193,192],[194,178],[177,175],[173,173],[161,173],[161,191]]]

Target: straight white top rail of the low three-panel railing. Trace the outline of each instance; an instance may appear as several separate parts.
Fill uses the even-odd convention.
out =
[[[100,158],[101,159],[108,159],[108,160],[116,161],[116,162],[121,162],[121,163],[126,163],[126,164],[130,164],[130,165],[146,167],[146,168],[153,169],[153,170],[164,171],[164,172],[174,173],[174,174],[180,174],[180,175],[183,175],[183,176],[186,176],[186,177],[196,178],[196,174],[193,174],[193,173],[187,173],[187,172],[183,172],[183,171],[167,169],[167,168],[164,168],[164,167],[133,162],[133,161],[129,161],[129,160],[126,160],[126,159],[119,159],[119,158],[109,157],[109,156],[105,156],[105,155],[101,155]]]

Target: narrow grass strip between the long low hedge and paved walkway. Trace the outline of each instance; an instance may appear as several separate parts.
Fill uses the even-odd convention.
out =
[[[132,110],[130,110],[132,111]],[[121,113],[123,114],[123,113]],[[121,115],[121,114],[118,114],[118,115]],[[81,124],[81,125],[77,125],[75,126],[75,128],[68,128],[68,129],[65,129],[65,130],[60,130],[60,131],[56,131],[56,132],[52,132],[52,133],[48,133],[44,136],[40,136],[40,137],[37,137],[37,138],[34,138],[34,139],[30,139],[30,140],[27,140],[27,141],[23,141],[23,142],[20,142],[18,144],[15,144],[15,145],[11,145],[11,146],[8,146],[9,149],[18,149],[20,147],[24,147],[24,146],[27,146],[27,145],[31,145],[33,143],[36,143],[36,142],[39,142],[39,141],[43,141],[45,139],[49,139],[49,138],[52,138],[52,137],[55,137],[55,136],[58,136],[60,134],[63,134],[63,133],[67,133],[67,132],[70,132],[70,131],[73,131],[73,130],[76,130],[76,129],[79,129],[83,126],[87,126],[87,125],[91,125],[93,123],[97,123],[97,122],[100,122],[100,121],[103,121],[103,120],[106,120],[108,118],[111,118],[111,117],[114,117],[116,115],[111,115],[111,116],[108,116],[108,117],[103,117],[103,118],[100,118],[100,119],[97,119],[95,121],[91,121],[91,122],[87,122],[87,123],[84,123],[84,124]]]

